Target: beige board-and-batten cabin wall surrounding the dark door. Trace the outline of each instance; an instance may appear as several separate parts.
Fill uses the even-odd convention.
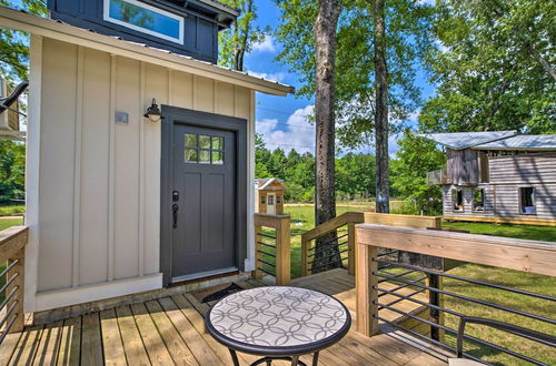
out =
[[[160,287],[161,123],[142,114],[156,98],[246,119],[251,136],[255,92],[50,38],[33,37],[33,52],[39,253],[28,311]],[[115,122],[117,111],[128,123]],[[251,144],[249,138],[249,151]],[[250,180],[252,153],[249,160]]]

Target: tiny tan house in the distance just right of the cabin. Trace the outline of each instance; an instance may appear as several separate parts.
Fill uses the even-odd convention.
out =
[[[284,215],[284,181],[276,177],[255,180],[255,212]]]

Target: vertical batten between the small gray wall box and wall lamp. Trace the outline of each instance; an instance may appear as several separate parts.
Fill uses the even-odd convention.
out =
[[[139,276],[145,274],[145,62],[139,62]]]

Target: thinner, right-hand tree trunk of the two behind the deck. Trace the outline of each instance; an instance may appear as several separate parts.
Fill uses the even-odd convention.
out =
[[[386,65],[386,0],[375,0],[375,141],[377,160],[376,212],[390,212],[388,180],[388,69]]]

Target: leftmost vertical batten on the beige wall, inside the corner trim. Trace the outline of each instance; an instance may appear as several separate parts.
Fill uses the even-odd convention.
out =
[[[77,49],[76,131],[73,138],[73,240],[71,285],[79,286],[79,246],[81,228],[81,145],[83,125],[85,48]]]

